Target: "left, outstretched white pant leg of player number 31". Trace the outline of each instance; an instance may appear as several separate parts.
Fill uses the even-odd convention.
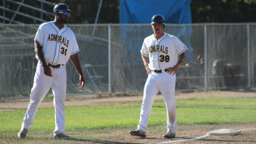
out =
[[[52,82],[53,78],[44,74],[43,66],[38,61],[36,73],[34,76],[34,84],[31,89],[28,110],[24,116],[23,123],[21,123],[21,127],[25,129],[30,129],[32,127],[36,116],[37,108],[49,91]]]

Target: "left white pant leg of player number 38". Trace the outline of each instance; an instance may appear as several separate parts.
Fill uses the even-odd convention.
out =
[[[154,103],[154,98],[158,93],[159,89],[157,86],[157,74],[151,73],[147,77],[147,81],[144,87],[143,102],[141,105],[141,116],[138,129],[147,131],[147,121],[149,119],[151,108]]]

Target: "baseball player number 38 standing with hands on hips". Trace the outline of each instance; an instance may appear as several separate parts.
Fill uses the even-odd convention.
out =
[[[165,23],[162,15],[152,17],[151,27],[154,34],[144,39],[141,49],[148,78],[144,87],[140,121],[137,130],[129,133],[132,136],[146,136],[147,121],[154,97],[160,90],[167,109],[167,133],[164,134],[164,138],[174,138],[175,129],[177,129],[175,73],[186,60],[188,48],[177,37],[163,32]]]

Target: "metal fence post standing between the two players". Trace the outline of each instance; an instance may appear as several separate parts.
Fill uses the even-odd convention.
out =
[[[111,45],[111,25],[109,25],[109,95],[112,95],[112,45]]]

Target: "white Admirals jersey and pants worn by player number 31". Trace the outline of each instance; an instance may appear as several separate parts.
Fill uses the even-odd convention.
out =
[[[38,61],[34,84],[30,94],[30,103],[24,116],[24,122],[21,126],[30,129],[34,122],[37,108],[42,102],[50,88],[53,90],[55,107],[55,130],[54,135],[63,133],[65,130],[65,99],[66,99],[66,62],[73,55],[79,52],[77,40],[72,30],[64,25],[59,28],[53,21],[43,23],[39,26],[35,41],[43,47],[43,55],[46,63],[59,65],[59,68],[51,68],[52,77],[44,74],[43,66]],[[37,55],[36,58],[38,59]]]

